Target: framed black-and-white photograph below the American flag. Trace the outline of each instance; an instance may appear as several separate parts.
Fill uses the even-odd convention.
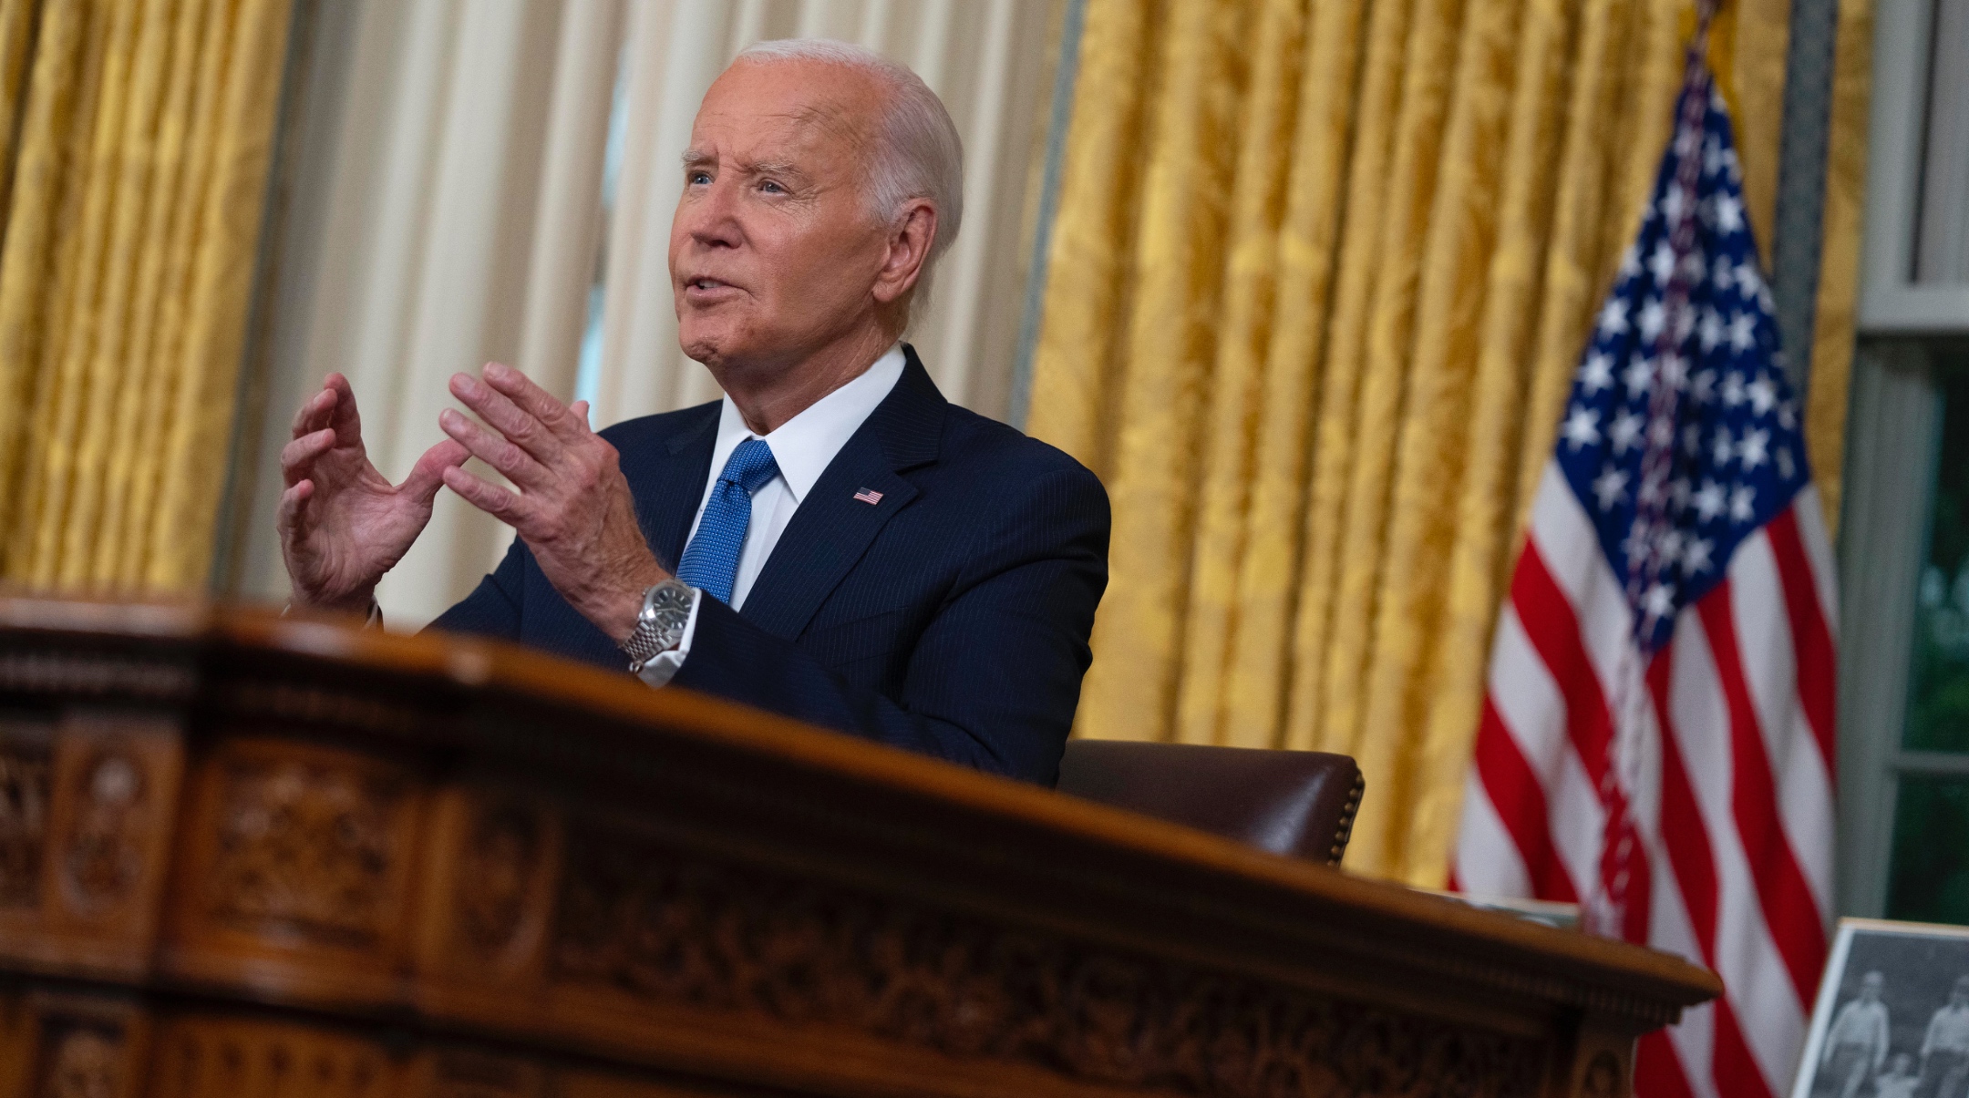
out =
[[[1792,1098],[1969,1098],[1969,927],[1841,919]]]

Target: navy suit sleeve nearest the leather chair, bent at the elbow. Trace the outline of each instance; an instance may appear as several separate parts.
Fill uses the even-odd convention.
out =
[[[1053,470],[984,516],[959,582],[916,641],[902,697],[845,683],[715,598],[701,600],[671,683],[1051,785],[1091,661],[1107,543],[1101,482],[1079,466]]]

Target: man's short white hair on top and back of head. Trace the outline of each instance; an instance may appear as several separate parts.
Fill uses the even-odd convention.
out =
[[[965,148],[957,124],[908,65],[882,57],[874,49],[829,37],[782,37],[746,47],[732,61],[774,65],[780,61],[819,61],[868,73],[888,89],[874,161],[868,165],[868,213],[878,222],[894,222],[904,203],[929,199],[937,207],[937,234],[923,256],[916,279],[916,301],[929,301],[929,274],[937,260],[957,240],[965,216]],[[912,307],[914,311],[914,307]]]

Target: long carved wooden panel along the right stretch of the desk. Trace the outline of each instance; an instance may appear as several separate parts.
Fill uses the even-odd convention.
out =
[[[981,919],[571,836],[555,978],[1183,1094],[1538,1092],[1546,1049]]]

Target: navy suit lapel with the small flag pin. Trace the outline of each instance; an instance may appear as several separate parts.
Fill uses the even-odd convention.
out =
[[[949,403],[916,350],[904,344],[904,354],[902,380],[813,482],[746,594],[740,614],[774,636],[794,640],[807,628],[888,519],[916,498],[900,472],[937,457]]]

